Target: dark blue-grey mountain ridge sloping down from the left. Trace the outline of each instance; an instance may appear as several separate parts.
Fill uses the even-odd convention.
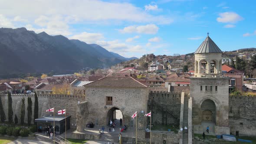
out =
[[[0,78],[21,73],[72,73],[85,67],[105,68],[125,60],[96,44],[62,35],[0,28]]]

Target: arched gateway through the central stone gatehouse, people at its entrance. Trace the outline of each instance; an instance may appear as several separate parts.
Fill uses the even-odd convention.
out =
[[[123,113],[119,108],[111,108],[107,113],[106,124],[109,125],[110,120],[115,121],[117,125],[120,125],[120,119],[123,119]]]

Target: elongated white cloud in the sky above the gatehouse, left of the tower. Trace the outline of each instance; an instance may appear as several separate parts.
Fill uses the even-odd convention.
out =
[[[144,26],[127,26],[124,29],[119,29],[121,33],[144,33],[156,34],[159,27],[154,24],[147,24]]]

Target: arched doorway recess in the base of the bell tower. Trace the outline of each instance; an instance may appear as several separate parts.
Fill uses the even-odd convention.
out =
[[[216,106],[214,101],[206,99],[201,105],[202,121],[216,122]]]

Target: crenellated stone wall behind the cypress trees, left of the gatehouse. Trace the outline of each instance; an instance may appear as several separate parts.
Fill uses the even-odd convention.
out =
[[[76,104],[78,101],[84,101],[83,96],[73,96],[73,95],[37,95],[38,96],[38,104],[39,111],[38,116],[43,117],[44,115],[48,115],[49,112],[46,112],[46,109],[55,108],[55,114],[57,115],[57,111],[66,108],[67,115],[71,115],[70,118],[70,127],[76,128]],[[25,98],[25,123],[27,122],[27,98],[31,97],[32,99],[32,119],[34,118],[34,102],[35,97],[33,94],[13,94],[13,120],[15,115],[18,117],[18,121],[20,123],[20,109],[21,109],[21,99]],[[6,115],[6,121],[8,120],[8,97],[7,95],[0,95],[2,100],[3,109]],[[52,113],[53,114],[53,113]],[[33,120],[32,120],[33,122]]]

